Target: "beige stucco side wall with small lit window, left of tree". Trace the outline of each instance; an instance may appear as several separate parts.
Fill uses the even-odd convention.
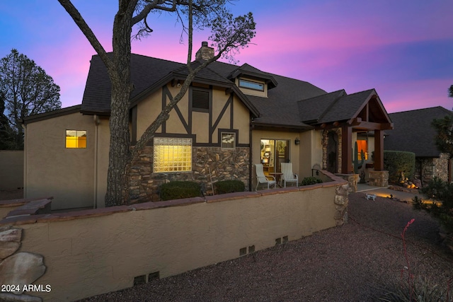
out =
[[[86,130],[86,149],[67,149],[66,130]],[[24,197],[53,196],[52,209],[93,207],[93,116],[72,113],[25,129]]]

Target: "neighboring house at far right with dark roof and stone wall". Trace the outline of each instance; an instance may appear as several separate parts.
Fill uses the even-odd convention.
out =
[[[435,176],[452,181],[451,161],[437,149],[436,132],[431,126],[432,120],[452,114],[440,106],[389,114],[395,128],[386,131],[384,149],[415,153],[414,176],[422,185],[427,185]]]

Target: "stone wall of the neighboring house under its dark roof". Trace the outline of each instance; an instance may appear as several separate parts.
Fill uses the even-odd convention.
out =
[[[414,177],[422,181],[422,186],[428,185],[435,176],[448,182],[448,166],[449,159],[445,153],[441,153],[439,158],[415,158]]]

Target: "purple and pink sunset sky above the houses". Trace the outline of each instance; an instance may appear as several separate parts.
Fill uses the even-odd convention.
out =
[[[117,8],[112,0],[74,0],[111,51]],[[279,4],[279,5],[276,5]],[[387,112],[433,106],[453,108],[453,1],[235,1],[234,13],[252,11],[253,45],[239,65],[308,81],[327,92],[375,88]],[[167,14],[153,14],[154,33],[132,43],[132,52],[185,62],[187,39]],[[16,48],[35,60],[61,88],[62,107],[81,103],[95,54],[56,0],[0,1],[0,57]],[[194,52],[209,33],[195,33]]]

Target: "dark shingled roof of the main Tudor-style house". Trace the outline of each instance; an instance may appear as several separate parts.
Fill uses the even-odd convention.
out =
[[[194,61],[192,64],[196,66],[200,62]],[[131,82],[134,85],[131,105],[170,81],[184,80],[187,74],[185,64],[131,54]],[[268,97],[244,95],[234,83],[234,79],[239,76],[266,81]],[[306,81],[271,74],[249,64],[236,66],[212,62],[197,74],[194,81],[231,88],[251,111],[253,124],[258,127],[313,129],[315,124],[351,120],[357,117],[363,106],[374,96],[380,104],[377,107],[381,108],[382,115],[386,117],[384,120],[389,120],[374,89],[350,95],[344,90],[326,93]],[[107,69],[101,58],[94,55],[86,80],[81,112],[110,115],[110,88]]]

